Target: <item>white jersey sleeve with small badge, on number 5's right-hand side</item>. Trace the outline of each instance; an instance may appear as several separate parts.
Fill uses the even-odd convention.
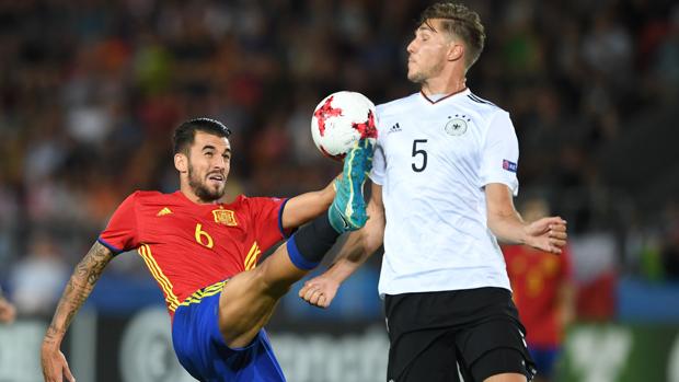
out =
[[[491,120],[481,154],[480,186],[502,183],[516,196],[519,193],[519,181],[516,176],[519,142],[508,113],[499,112]]]

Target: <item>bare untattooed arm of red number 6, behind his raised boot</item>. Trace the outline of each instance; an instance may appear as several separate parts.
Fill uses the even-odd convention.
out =
[[[335,197],[334,182],[321,190],[304,193],[288,200],[283,210],[283,228],[300,227],[325,212]]]

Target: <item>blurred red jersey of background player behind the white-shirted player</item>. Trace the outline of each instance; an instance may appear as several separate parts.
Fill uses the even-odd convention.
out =
[[[563,324],[559,311],[559,289],[572,276],[567,248],[559,256],[522,245],[503,247],[514,302],[528,329],[529,345],[561,344]]]

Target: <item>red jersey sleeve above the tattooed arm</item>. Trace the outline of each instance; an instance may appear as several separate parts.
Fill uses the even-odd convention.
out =
[[[113,212],[106,229],[99,235],[97,241],[116,255],[139,246],[136,215],[137,197],[138,192],[128,196]]]

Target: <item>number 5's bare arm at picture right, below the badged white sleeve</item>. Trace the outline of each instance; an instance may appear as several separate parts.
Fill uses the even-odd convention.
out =
[[[560,254],[566,244],[566,221],[549,217],[525,222],[514,208],[511,190],[504,184],[485,186],[487,222],[493,234],[508,244],[526,244],[545,252]]]

